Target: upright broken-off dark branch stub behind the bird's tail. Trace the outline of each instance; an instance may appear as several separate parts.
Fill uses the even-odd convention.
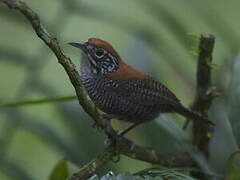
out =
[[[200,112],[207,116],[212,100],[219,95],[216,88],[212,85],[212,52],[215,37],[210,34],[202,34],[199,43],[199,56],[197,65],[197,88],[192,110]],[[184,129],[187,127],[189,120],[186,121]],[[193,121],[193,144],[208,157],[209,133],[213,129],[208,129],[199,121]]]

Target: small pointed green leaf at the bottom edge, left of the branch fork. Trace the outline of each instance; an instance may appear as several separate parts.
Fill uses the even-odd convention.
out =
[[[67,161],[60,160],[50,174],[49,180],[66,180],[69,176]]]

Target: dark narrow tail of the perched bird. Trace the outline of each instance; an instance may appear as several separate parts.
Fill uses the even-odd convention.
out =
[[[212,121],[209,121],[208,118],[198,114],[197,112],[191,111],[183,106],[180,107],[177,110],[177,112],[182,116],[186,117],[187,119],[202,121],[203,123],[206,123],[210,126],[215,126],[215,124]]]

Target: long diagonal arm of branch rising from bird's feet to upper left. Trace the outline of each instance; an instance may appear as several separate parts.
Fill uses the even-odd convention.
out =
[[[59,46],[56,38],[54,38],[41,24],[38,15],[27,6],[26,3],[18,0],[0,0],[7,4],[9,8],[13,8],[21,12],[31,23],[33,29],[40,39],[42,39],[45,44],[52,50],[58,59],[58,62],[63,66],[68,77],[75,88],[76,94],[79,99],[79,103],[84,108],[84,110],[93,117],[94,120],[98,122],[98,125],[104,125],[104,121],[101,120],[98,115],[94,105],[87,98],[81,84],[79,73],[76,70],[75,65],[69,57],[67,57]]]

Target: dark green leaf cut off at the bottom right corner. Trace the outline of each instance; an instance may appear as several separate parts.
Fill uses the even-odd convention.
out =
[[[240,151],[234,152],[227,162],[226,179],[240,179]]]

